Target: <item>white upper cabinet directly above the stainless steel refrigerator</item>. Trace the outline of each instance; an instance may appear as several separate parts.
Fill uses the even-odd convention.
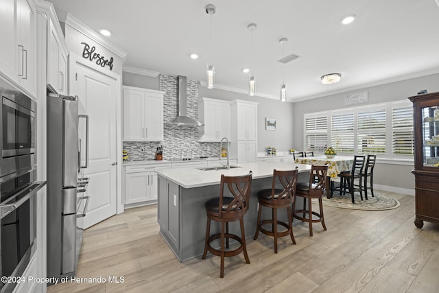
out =
[[[47,32],[47,83],[62,95],[67,95],[67,45],[57,20],[50,20]]]

